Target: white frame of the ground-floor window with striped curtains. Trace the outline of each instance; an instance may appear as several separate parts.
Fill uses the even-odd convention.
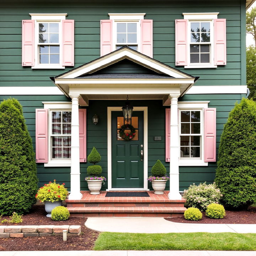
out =
[[[52,159],[52,143],[51,143],[51,112],[52,111],[71,111],[72,102],[42,102],[44,108],[48,109],[48,163],[44,167],[70,167],[71,159]]]

